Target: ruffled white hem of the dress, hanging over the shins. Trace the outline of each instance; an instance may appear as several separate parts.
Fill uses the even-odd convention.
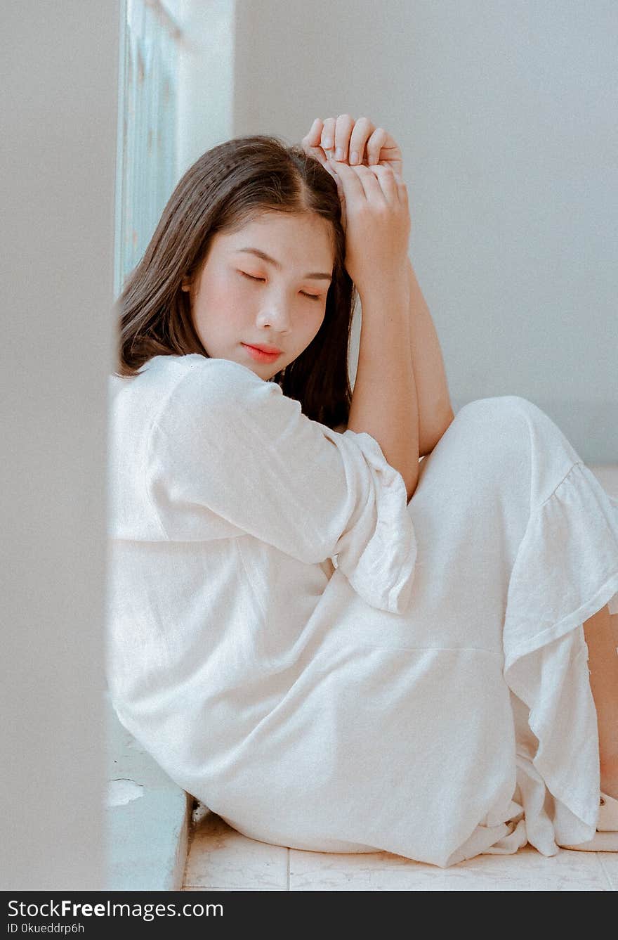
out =
[[[523,815],[506,840],[515,846],[525,836],[553,855],[557,843],[595,835],[598,728],[583,623],[605,604],[618,613],[618,499],[577,462],[531,516],[509,582],[503,674],[518,699]],[[517,851],[506,840],[486,852]]]

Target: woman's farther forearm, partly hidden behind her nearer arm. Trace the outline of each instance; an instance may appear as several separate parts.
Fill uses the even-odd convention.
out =
[[[410,353],[419,409],[419,455],[430,453],[454,418],[440,341],[411,261],[409,283]]]

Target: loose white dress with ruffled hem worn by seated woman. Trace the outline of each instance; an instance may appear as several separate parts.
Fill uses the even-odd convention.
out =
[[[441,868],[593,837],[618,500],[548,415],[471,401],[408,503],[373,437],[238,363],[110,391],[109,691],[180,787],[250,838]]]

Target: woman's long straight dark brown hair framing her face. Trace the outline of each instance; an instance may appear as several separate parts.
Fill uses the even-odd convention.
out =
[[[156,355],[209,356],[181,284],[193,279],[217,232],[237,230],[261,211],[315,212],[332,225],[334,265],[324,321],[307,348],[270,381],[299,400],[304,415],[331,428],[347,424],[356,291],[344,265],[346,235],[337,186],[300,146],[264,134],[235,137],[207,150],[179,180],[116,301],[116,375],[136,375]]]

